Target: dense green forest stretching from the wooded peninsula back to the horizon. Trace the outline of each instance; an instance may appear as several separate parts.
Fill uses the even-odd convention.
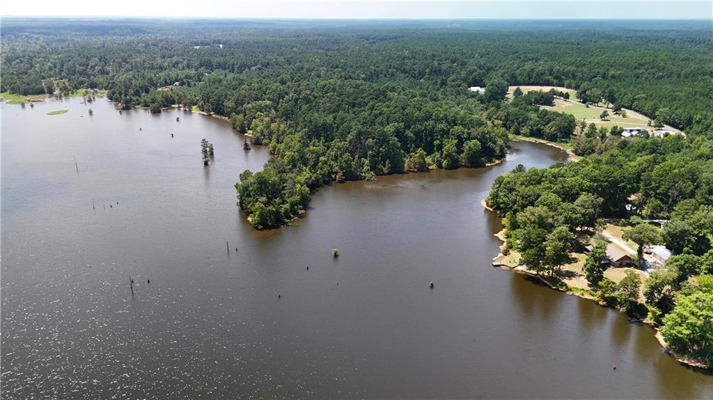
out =
[[[236,185],[259,228],[297,216],[332,181],[479,167],[504,156],[508,135],[577,131],[571,115],[538,107],[553,94],[506,101],[508,85],[565,86],[689,135],[713,126],[713,38],[696,23],[8,20],[2,30],[3,92],[100,88],[124,108],[198,107],[269,145],[264,171]],[[611,147],[606,130],[586,133],[581,154]]]

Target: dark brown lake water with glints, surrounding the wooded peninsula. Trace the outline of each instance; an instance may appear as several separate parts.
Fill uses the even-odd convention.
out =
[[[233,185],[267,149],[224,121],[2,107],[4,399],[713,398],[649,327],[491,266],[481,199],[557,149],[329,186],[259,232]]]

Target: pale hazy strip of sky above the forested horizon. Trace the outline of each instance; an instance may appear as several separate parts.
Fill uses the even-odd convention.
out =
[[[713,0],[24,0],[2,16],[221,19],[704,19]]]

